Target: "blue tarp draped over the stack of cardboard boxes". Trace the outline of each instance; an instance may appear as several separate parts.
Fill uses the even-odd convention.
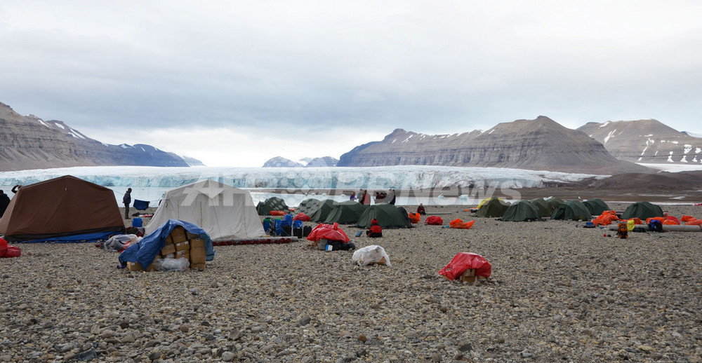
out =
[[[186,221],[168,219],[163,226],[149,233],[136,245],[131,245],[125,249],[124,252],[119,254],[119,262],[138,262],[144,270],[146,270],[156,256],[158,256],[159,252],[161,252],[161,249],[164,248],[166,245],[166,237],[171,234],[171,231],[173,231],[173,228],[176,228],[176,226],[183,226],[185,231],[200,235],[200,238],[205,240],[206,261],[212,261],[212,259],[215,258],[215,249],[212,247],[212,239],[204,229]]]

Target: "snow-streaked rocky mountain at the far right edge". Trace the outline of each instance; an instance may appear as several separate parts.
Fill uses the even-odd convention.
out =
[[[621,160],[635,163],[702,163],[702,138],[656,120],[586,123],[578,128]]]

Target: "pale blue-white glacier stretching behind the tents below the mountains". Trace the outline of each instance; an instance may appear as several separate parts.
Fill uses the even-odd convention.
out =
[[[310,196],[347,200],[347,196],[333,192],[337,189],[453,189],[446,194],[456,196],[455,198],[444,198],[442,194],[437,193],[433,204],[472,204],[475,203],[475,198],[484,196],[484,193],[477,196],[475,191],[478,190],[534,188],[553,182],[567,183],[590,177],[608,177],[545,170],[425,165],[305,168],[102,166],[0,172],[0,189],[8,190],[15,184],[33,184],[62,175],[73,175],[106,186],[114,191],[119,203],[128,187],[133,189],[133,198],[157,203],[165,191],[199,180],[212,179],[251,191],[255,202],[274,195],[285,195],[286,203],[291,206]],[[463,196],[462,193],[470,196]],[[420,202],[421,199],[413,197],[401,197],[397,200],[399,205]],[[428,200],[421,203],[431,202]]]

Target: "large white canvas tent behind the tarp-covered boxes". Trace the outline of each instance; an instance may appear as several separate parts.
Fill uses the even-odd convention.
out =
[[[146,234],[162,226],[168,219],[197,224],[213,240],[265,235],[251,194],[213,180],[167,191],[154,217],[145,227]]]

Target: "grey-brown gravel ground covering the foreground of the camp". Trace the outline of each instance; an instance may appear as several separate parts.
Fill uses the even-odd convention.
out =
[[[93,244],[18,244],[0,260],[0,362],[700,362],[702,233],[620,240],[582,225],[476,219],[352,238],[392,267],[300,241],[135,273]],[[490,282],[440,278],[457,252],[490,261]]]

